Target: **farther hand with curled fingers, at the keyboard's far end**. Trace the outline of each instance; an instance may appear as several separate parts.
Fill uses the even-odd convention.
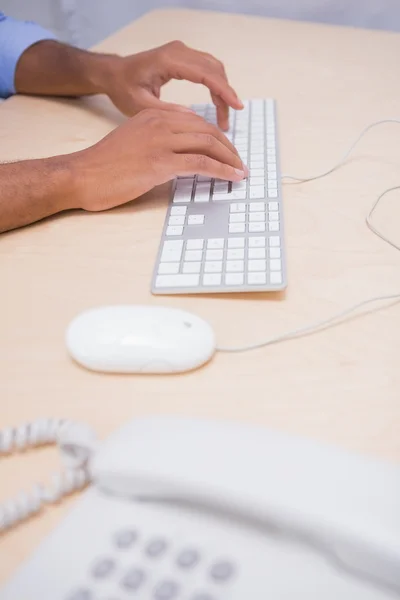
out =
[[[127,57],[119,57],[105,84],[105,93],[125,115],[144,108],[188,111],[160,100],[161,87],[171,79],[187,79],[207,86],[217,107],[221,129],[229,126],[229,107],[243,108],[229,85],[224,65],[211,54],[188,48],[183,42],[170,42],[159,48]]]

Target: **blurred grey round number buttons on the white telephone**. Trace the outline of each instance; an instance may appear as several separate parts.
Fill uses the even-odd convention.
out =
[[[219,593],[214,595],[214,588],[225,588],[235,575],[233,561],[221,556],[210,561],[210,557],[204,556],[205,549],[184,540],[176,546],[155,532],[143,538],[136,528],[116,531],[111,540],[108,551],[114,546],[116,552],[111,556],[100,555],[89,565],[93,589],[82,582],[83,586],[65,600],[121,600],[118,587],[124,598],[145,592],[149,600],[222,600]],[[114,585],[114,577],[115,596],[109,587]],[[203,589],[201,580],[205,584]],[[107,581],[106,596],[101,593],[103,581]]]

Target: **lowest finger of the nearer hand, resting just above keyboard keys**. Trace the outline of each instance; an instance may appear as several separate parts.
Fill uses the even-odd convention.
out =
[[[175,154],[172,164],[175,176],[204,175],[226,181],[242,181],[244,171],[225,165],[203,154]]]

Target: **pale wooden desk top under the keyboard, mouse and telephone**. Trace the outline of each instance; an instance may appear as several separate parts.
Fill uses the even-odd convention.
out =
[[[174,38],[226,64],[243,98],[273,96],[283,170],[308,175],[338,161],[369,123],[400,116],[400,35],[190,11],[153,12],[99,49],[133,53]],[[207,101],[173,83],[165,98]],[[67,153],[122,121],[102,98],[13,98],[0,107],[0,160]],[[64,332],[98,304],[166,304],[207,319],[224,344],[256,341],[400,291],[400,256],[364,218],[376,196],[400,184],[400,128],[371,132],[329,178],[285,188],[290,285],[284,298],[155,298],[150,275],[166,190],[103,214],[76,212],[0,238],[1,425],[54,415],[105,436],[127,419],[162,411],[262,422],[400,460],[399,305],[318,335],[255,352],[217,355],[181,376],[102,376],[78,368]],[[399,237],[396,193],[377,220]],[[56,452],[0,465],[1,497],[46,478]],[[0,542],[0,581],[71,506],[47,511]]]

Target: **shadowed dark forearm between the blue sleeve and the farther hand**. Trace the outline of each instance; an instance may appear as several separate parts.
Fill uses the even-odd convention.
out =
[[[49,96],[101,94],[120,58],[41,41],[21,56],[16,73],[18,93]]]

